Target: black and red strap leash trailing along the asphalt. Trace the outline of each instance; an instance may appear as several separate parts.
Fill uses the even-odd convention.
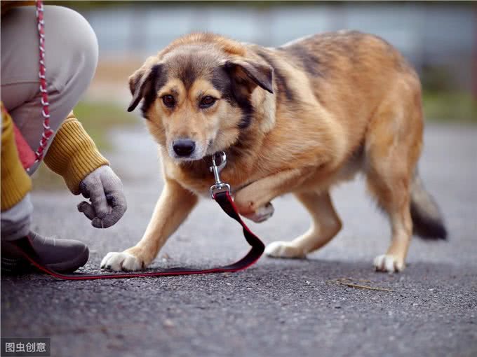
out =
[[[128,279],[128,278],[142,278],[147,276],[172,276],[172,275],[192,275],[192,274],[211,274],[211,273],[225,273],[225,272],[238,272],[239,270],[246,269],[253,265],[262,255],[264,251],[264,244],[262,241],[253,234],[252,231],[243,223],[242,219],[237,213],[234,201],[231,199],[228,191],[216,193],[215,201],[220,205],[226,214],[231,218],[234,218],[235,221],[241,224],[243,228],[243,235],[245,236],[248,244],[252,246],[247,255],[245,255],[241,260],[234,262],[230,265],[224,265],[222,267],[214,267],[210,269],[192,269],[192,268],[183,268],[175,267],[171,269],[163,269],[159,272],[144,272],[144,273],[112,273],[112,274],[61,274],[55,272],[51,269],[48,269],[43,265],[41,259],[38,257],[32,242],[28,237],[19,239],[15,241],[16,248],[18,251],[34,265],[36,268],[40,269],[42,272],[54,276],[58,279],[64,280],[95,280],[95,279]]]

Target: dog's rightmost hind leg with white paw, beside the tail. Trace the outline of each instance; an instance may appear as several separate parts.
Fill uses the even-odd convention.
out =
[[[406,93],[398,95],[406,98]],[[383,105],[370,123],[365,143],[368,188],[391,225],[391,245],[374,260],[382,272],[404,269],[412,237],[410,184],[422,146],[422,111],[417,100],[405,104]]]

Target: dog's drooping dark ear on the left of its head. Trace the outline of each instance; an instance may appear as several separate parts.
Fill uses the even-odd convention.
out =
[[[133,111],[147,92],[154,89],[157,78],[161,76],[161,71],[162,65],[157,63],[157,57],[149,57],[140,69],[129,76],[129,89],[133,94],[133,99],[128,106],[128,111]]]

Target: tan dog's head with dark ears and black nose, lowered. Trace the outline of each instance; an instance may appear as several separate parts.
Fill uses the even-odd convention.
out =
[[[200,160],[237,141],[253,118],[253,92],[273,93],[272,76],[271,66],[248,57],[239,43],[193,34],[149,57],[130,76],[128,111],[143,99],[142,115],[168,155]]]

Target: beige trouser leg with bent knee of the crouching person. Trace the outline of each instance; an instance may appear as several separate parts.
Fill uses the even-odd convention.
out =
[[[45,6],[44,19],[50,126],[56,131],[93,79],[98,41],[74,10]],[[34,151],[43,133],[38,71],[35,8],[13,8],[1,19],[1,100]]]

